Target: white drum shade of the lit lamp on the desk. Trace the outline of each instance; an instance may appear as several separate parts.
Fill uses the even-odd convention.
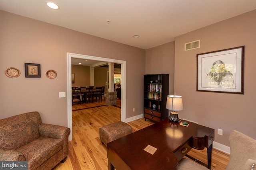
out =
[[[167,96],[167,102],[166,102],[166,109],[172,110],[172,111],[183,110],[182,97],[181,96],[168,95]]]

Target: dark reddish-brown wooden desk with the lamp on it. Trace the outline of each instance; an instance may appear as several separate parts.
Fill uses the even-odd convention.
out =
[[[182,121],[183,122],[183,121]],[[108,169],[114,170],[172,170],[190,149],[208,148],[208,169],[212,160],[214,129],[195,123],[185,127],[168,119],[108,143]],[[148,146],[154,154],[146,152]]]

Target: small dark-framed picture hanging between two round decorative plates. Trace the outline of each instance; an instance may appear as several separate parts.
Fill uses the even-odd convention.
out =
[[[25,63],[25,77],[40,78],[40,64]]]

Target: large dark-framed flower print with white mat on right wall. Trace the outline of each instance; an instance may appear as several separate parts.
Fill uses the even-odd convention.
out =
[[[244,46],[196,55],[196,91],[244,94]]]

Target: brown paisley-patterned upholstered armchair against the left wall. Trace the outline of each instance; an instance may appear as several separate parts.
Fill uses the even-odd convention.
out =
[[[37,111],[0,120],[0,160],[28,161],[28,170],[51,170],[68,156],[70,129],[42,123]]]

